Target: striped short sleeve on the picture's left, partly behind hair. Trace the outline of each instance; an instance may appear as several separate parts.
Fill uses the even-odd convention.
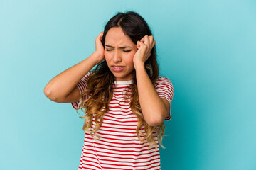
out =
[[[76,85],[76,86],[78,86],[80,94],[82,94],[82,92],[87,89],[87,79],[90,76],[90,74],[92,74],[92,72],[88,72],[87,74],[85,74],[85,76],[82,77],[82,79]],[[82,97],[83,98],[80,98],[79,101],[71,103],[71,105],[73,106],[73,108],[75,108],[75,110],[78,110],[78,108],[80,107],[80,105],[82,103],[82,99],[86,100],[87,98],[89,98],[89,96],[87,96],[87,95],[86,96],[82,96]]]

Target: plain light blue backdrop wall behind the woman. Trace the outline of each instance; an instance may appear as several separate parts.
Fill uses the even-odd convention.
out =
[[[252,0],[1,1],[0,169],[78,169],[84,119],[43,88],[128,10],[149,23],[161,76],[174,84],[161,169],[256,169]]]

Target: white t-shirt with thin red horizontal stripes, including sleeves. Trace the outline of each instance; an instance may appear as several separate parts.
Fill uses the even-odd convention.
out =
[[[87,88],[87,77],[91,73],[88,72],[78,82],[77,86],[80,93]],[[157,149],[155,149],[154,145],[148,149],[148,142],[140,142],[136,134],[137,117],[129,107],[129,98],[124,100],[122,95],[124,89],[132,84],[132,80],[114,81],[114,84],[115,88],[112,101],[109,103],[109,111],[103,115],[103,123],[100,130],[96,132],[100,139],[93,139],[90,136],[90,132],[85,131],[79,169],[160,169],[159,142],[156,133],[153,133],[153,135],[158,145]],[[174,96],[174,88],[169,79],[159,77],[156,81],[155,89],[161,98],[166,98],[171,103]],[[84,98],[88,98],[88,96]],[[73,108],[78,109],[81,99],[71,104]],[[170,111],[165,120],[171,120]],[[95,125],[93,117],[90,131]],[[142,126],[141,131],[145,132],[144,126]],[[143,138],[142,135],[141,137]]]

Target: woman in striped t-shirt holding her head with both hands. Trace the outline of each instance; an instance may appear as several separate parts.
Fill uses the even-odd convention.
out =
[[[160,169],[174,89],[159,77],[155,43],[138,13],[117,13],[95,52],[46,85],[50,100],[85,113],[79,169]]]

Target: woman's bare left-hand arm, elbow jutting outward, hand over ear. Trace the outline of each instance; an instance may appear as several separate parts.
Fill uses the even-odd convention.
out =
[[[103,33],[100,33],[95,39],[96,50],[90,57],[66,69],[46,84],[44,94],[50,100],[58,103],[79,100],[80,93],[76,85],[92,67],[104,60],[104,47],[101,42],[102,35]]]

